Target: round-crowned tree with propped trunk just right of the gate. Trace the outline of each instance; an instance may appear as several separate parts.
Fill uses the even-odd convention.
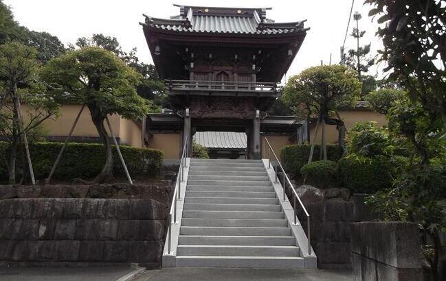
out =
[[[285,101],[294,108],[300,108],[309,117],[317,114],[309,162],[313,158],[319,123],[322,122],[321,158],[326,160],[325,124],[337,125],[339,144],[343,145],[344,121],[339,117],[337,110],[355,106],[360,90],[361,83],[355,71],[341,65],[310,67],[289,79],[284,90]],[[332,112],[337,115],[336,119],[331,118]]]

